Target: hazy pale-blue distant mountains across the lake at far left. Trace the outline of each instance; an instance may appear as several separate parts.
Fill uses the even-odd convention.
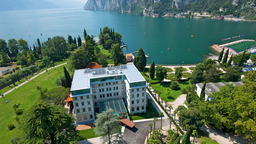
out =
[[[83,2],[75,0],[1,0],[1,10],[32,10],[51,8],[82,8]]]

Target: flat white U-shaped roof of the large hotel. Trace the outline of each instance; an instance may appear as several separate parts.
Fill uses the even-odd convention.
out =
[[[146,81],[134,64],[125,64],[107,68],[79,69],[74,72],[71,91],[90,88],[91,78],[103,78],[118,75],[125,75],[129,83]]]

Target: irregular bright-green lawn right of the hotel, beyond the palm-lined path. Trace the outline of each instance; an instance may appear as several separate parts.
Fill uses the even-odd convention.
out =
[[[161,92],[160,98],[167,98],[168,102],[173,102],[178,98],[178,96],[182,95],[182,92],[180,91],[182,88],[186,88],[186,86],[192,86],[190,80],[187,82],[179,82],[179,88],[178,90],[171,90],[169,96],[167,96],[164,92],[166,92],[166,89],[169,88],[170,84],[153,84],[151,87],[154,90],[158,90]]]

